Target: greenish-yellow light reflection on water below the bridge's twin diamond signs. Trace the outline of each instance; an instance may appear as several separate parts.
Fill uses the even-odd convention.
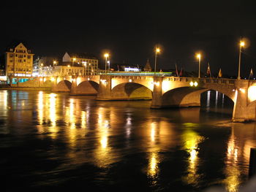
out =
[[[194,126],[193,123],[187,123],[188,128]],[[184,150],[189,153],[187,176],[183,178],[184,182],[189,185],[197,185],[200,181],[200,174],[197,173],[197,165],[199,158],[198,154],[198,144],[202,142],[204,137],[201,137],[197,132],[187,129],[182,135],[182,140],[184,141]]]

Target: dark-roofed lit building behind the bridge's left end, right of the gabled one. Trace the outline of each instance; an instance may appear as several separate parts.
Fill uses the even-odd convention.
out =
[[[71,62],[70,66],[78,64],[83,66],[85,75],[98,74],[99,60],[89,53],[65,53],[62,58],[63,63]]]

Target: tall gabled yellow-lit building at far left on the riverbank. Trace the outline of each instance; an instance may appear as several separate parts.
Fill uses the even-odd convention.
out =
[[[22,42],[7,49],[5,69],[8,83],[17,84],[29,80],[33,72],[33,55]]]

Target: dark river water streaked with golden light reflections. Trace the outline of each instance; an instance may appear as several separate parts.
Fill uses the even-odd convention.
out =
[[[231,123],[232,101],[211,91],[201,108],[150,105],[0,91],[1,191],[237,191],[247,181],[256,124]]]

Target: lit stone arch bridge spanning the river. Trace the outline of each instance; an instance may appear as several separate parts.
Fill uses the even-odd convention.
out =
[[[42,77],[41,77],[42,78]],[[199,107],[200,94],[224,93],[233,103],[233,121],[256,120],[256,81],[196,77],[93,75],[44,77],[53,92],[97,95],[97,100],[152,99],[151,108]]]

